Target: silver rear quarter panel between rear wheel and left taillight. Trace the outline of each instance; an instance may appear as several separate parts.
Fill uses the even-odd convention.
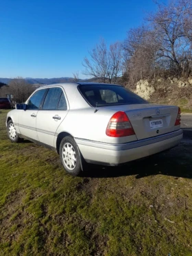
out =
[[[108,121],[116,110],[106,108],[82,108],[78,110],[69,110],[67,117],[60,124],[57,135],[60,132],[69,132],[74,138],[87,139],[103,143],[125,143],[135,141],[136,136],[114,138],[106,135]]]

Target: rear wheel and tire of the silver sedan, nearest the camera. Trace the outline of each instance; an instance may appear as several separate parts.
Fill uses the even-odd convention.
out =
[[[82,171],[80,154],[71,136],[64,137],[60,143],[60,160],[67,173],[72,176],[80,175]]]

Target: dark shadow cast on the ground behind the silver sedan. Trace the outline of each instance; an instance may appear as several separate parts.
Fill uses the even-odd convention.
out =
[[[192,143],[180,143],[180,146],[161,152],[139,161],[132,161],[117,167],[88,164],[82,176],[90,178],[112,178],[131,176],[143,178],[158,174],[192,178]]]

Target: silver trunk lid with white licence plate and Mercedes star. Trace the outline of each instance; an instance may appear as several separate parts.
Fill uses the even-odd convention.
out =
[[[124,111],[128,115],[137,139],[163,135],[180,128],[175,126],[177,106],[132,104],[109,106],[109,108]]]

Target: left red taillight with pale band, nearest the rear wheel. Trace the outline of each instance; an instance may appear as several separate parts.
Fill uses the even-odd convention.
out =
[[[130,119],[123,111],[115,113],[106,128],[106,135],[110,137],[125,137],[135,135]]]

